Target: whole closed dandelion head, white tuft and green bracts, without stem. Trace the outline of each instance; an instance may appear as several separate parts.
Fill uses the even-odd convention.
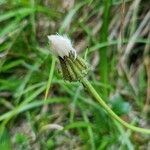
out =
[[[48,39],[53,54],[58,56],[65,80],[79,81],[87,75],[89,70],[87,63],[76,55],[76,50],[67,36],[49,35]]]

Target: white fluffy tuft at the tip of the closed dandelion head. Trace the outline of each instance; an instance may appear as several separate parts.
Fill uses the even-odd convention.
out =
[[[64,56],[69,56],[69,54],[73,54],[74,58],[76,58],[76,50],[72,47],[72,43],[70,39],[64,35],[49,35],[48,40],[51,44],[52,52],[61,58]]]

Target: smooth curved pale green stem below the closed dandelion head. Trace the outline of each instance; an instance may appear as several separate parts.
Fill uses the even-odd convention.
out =
[[[87,88],[87,90],[92,94],[92,96],[101,104],[101,106],[107,111],[107,113],[113,117],[115,120],[120,122],[123,126],[125,126],[128,129],[131,129],[136,132],[141,132],[145,134],[150,134],[150,129],[144,129],[144,128],[139,128],[133,125],[130,125],[129,123],[125,122],[122,120],[119,116],[117,116],[111,108],[102,100],[102,98],[98,95],[98,93],[95,91],[93,86],[90,84],[90,82],[86,78],[82,78],[80,82]]]

